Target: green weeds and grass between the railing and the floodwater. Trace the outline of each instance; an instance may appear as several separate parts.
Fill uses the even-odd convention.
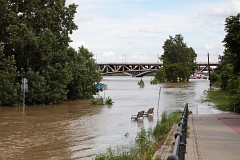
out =
[[[159,144],[166,138],[171,127],[180,119],[181,112],[167,115],[162,114],[162,119],[153,129],[146,131],[144,128],[137,134],[135,143],[128,147],[108,148],[106,153],[96,156],[96,160],[149,160],[153,157]],[[160,158],[159,158],[160,159]]]

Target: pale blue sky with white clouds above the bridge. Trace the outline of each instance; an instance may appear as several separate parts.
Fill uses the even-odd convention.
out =
[[[225,19],[240,0],[66,0],[78,5],[70,46],[84,46],[97,63],[159,62],[164,42],[181,34],[197,62],[223,55]]]

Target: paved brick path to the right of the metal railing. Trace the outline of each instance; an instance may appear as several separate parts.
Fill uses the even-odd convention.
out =
[[[186,160],[240,160],[240,115],[189,117]]]

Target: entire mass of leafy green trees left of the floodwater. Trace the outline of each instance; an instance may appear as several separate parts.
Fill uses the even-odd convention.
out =
[[[2,104],[20,102],[23,77],[29,82],[27,104],[84,99],[96,92],[101,77],[93,54],[69,47],[69,35],[77,29],[76,8],[65,0],[0,2]]]

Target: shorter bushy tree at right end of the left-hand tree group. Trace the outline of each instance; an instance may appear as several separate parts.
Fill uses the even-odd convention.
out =
[[[71,55],[71,71],[73,79],[68,84],[68,99],[92,98],[96,93],[96,83],[100,82],[101,75],[93,59],[93,54],[81,46],[78,52],[69,50]]]

